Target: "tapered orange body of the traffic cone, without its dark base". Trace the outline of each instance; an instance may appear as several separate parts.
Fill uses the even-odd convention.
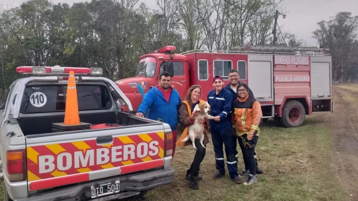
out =
[[[67,83],[66,109],[64,111],[64,125],[79,125],[80,115],[78,114],[77,89],[75,74],[70,71]]]

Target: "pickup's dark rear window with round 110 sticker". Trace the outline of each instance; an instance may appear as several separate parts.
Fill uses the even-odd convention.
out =
[[[106,86],[78,85],[78,109],[97,110],[112,107],[111,97]],[[62,112],[66,107],[66,86],[28,86],[21,102],[22,113]]]

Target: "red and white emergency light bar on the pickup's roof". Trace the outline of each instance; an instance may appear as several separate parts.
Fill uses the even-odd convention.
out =
[[[102,75],[101,68],[74,68],[74,67],[42,67],[42,66],[20,66],[16,68],[17,73],[32,75],[68,75],[73,71],[75,75]]]

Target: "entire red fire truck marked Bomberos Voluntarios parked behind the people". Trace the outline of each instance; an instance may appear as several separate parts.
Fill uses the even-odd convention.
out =
[[[229,83],[231,69],[239,81],[248,84],[260,101],[264,119],[273,118],[278,126],[301,126],[305,115],[333,112],[332,57],[328,49],[311,47],[240,46],[236,50],[191,50],[174,53],[167,46],[139,58],[135,77],[116,82],[131,101],[133,110],[145,93],[158,85],[159,74],[168,71],[172,86],[183,99],[191,85],[202,87],[200,99],[206,100],[213,89],[212,77],[221,75]],[[123,101],[121,101],[123,102]],[[125,105],[122,105],[125,109]]]

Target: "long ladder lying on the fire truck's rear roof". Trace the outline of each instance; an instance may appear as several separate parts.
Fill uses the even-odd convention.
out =
[[[329,48],[316,48],[316,47],[293,47],[293,46],[250,46],[250,45],[241,45],[239,47],[233,47],[235,50],[278,50],[281,52],[287,51],[313,51],[313,52],[320,52],[320,51],[328,51]]]

